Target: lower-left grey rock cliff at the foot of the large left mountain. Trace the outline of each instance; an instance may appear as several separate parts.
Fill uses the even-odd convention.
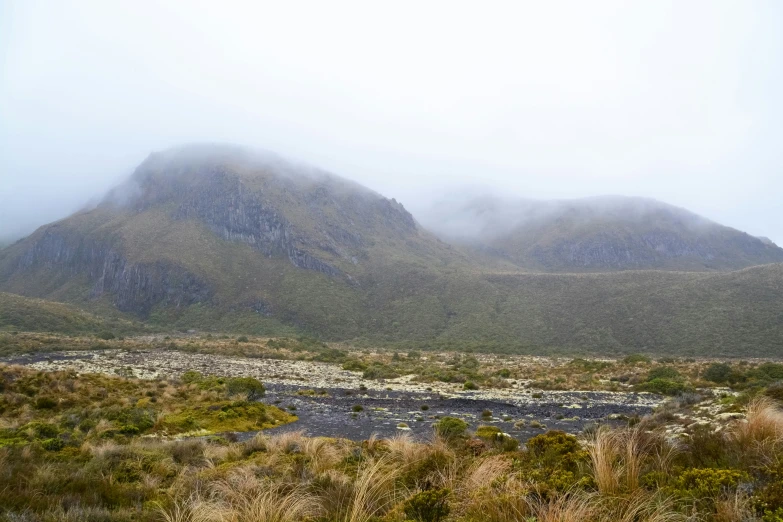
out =
[[[156,305],[188,306],[208,301],[210,290],[195,275],[165,262],[130,263],[107,243],[43,232],[19,258],[18,269],[47,268],[61,276],[86,275],[91,296],[110,295],[123,312],[146,317]]]

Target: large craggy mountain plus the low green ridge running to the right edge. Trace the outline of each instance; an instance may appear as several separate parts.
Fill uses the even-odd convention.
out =
[[[713,263],[745,259],[732,255]],[[0,250],[0,291],[154,328],[400,348],[783,353],[783,264],[595,273],[520,264],[446,243],[400,203],[332,174],[190,146],[152,154],[95,208]]]

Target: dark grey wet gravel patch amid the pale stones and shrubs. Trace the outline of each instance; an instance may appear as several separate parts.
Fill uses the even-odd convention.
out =
[[[354,440],[367,439],[373,433],[389,437],[401,432],[426,438],[432,434],[432,424],[439,417],[449,416],[463,419],[471,428],[495,425],[525,441],[547,429],[578,433],[591,424],[622,423],[618,419],[652,411],[649,406],[633,403],[596,402],[600,392],[558,393],[542,397],[540,401],[514,404],[470,396],[446,397],[387,390],[329,389],[325,390],[326,396],[302,396],[297,395],[304,391],[302,387],[270,384],[267,389],[264,402],[283,408],[294,407],[292,413],[299,417],[298,422],[274,431],[303,430],[312,436]],[[591,395],[594,396],[592,400]]]

